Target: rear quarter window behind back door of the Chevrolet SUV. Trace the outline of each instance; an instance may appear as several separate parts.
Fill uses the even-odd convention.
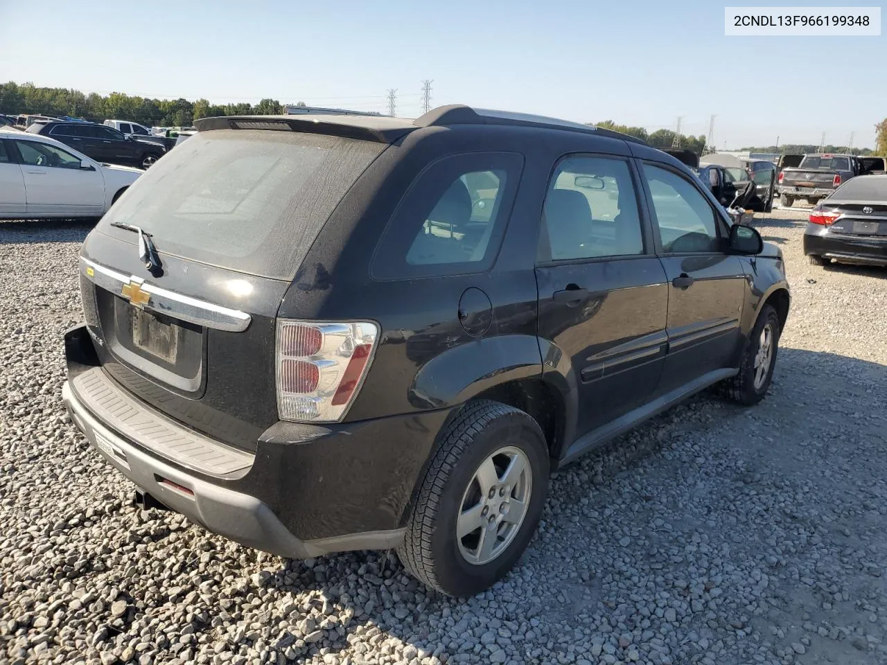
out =
[[[489,270],[522,166],[517,153],[467,153],[433,162],[407,190],[383,233],[373,258],[373,277]]]

